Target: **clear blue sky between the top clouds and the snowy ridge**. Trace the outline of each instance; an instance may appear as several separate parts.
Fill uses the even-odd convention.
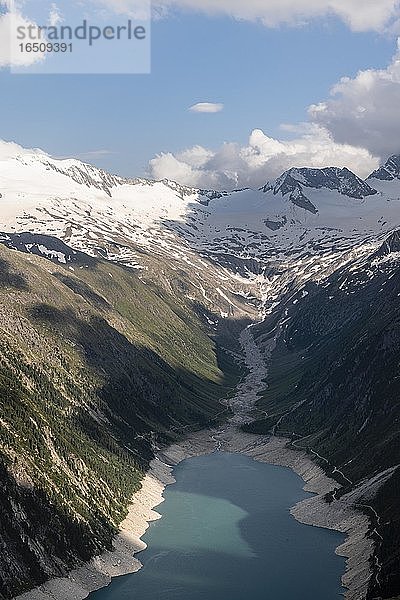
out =
[[[353,32],[335,17],[268,28],[178,11],[153,23],[150,75],[0,71],[0,138],[143,175],[160,152],[242,146],[255,128],[284,140],[282,123],[306,121],[341,77],[384,69],[395,51],[395,36]],[[224,110],[188,111],[203,101]]]

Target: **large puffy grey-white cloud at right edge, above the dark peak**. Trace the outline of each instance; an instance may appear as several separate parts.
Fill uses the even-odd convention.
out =
[[[341,79],[332,89],[332,98],[312,105],[309,114],[338,143],[367,148],[381,158],[399,153],[400,44],[386,69]]]

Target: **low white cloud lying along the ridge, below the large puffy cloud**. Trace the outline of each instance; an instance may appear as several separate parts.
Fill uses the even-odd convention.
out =
[[[225,143],[216,151],[194,146],[177,154],[162,153],[150,161],[149,173],[193,187],[231,190],[260,187],[294,166],[346,166],[364,177],[378,166],[367,150],[335,143],[322,127],[303,124],[290,129],[297,137],[289,141],[255,129],[246,146]]]

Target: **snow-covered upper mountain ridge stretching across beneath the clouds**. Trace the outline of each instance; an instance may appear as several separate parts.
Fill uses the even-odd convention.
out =
[[[271,307],[293,279],[322,279],[400,228],[399,162],[366,181],[347,169],[290,169],[260,190],[227,193],[27,152],[0,161],[0,231],[54,236],[136,269],[140,249],[200,271],[211,261],[239,293],[256,282]]]

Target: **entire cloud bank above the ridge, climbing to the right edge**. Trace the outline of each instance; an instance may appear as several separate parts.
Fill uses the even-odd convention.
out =
[[[400,42],[386,69],[343,78],[332,97],[309,107],[310,122],[282,125],[291,139],[256,129],[246,146],[225,143],[212,151],[194,146],[150,161],[150,173],[195,187],[259,187],[297,167],[348,167],[367,176],[390,154],[400,152]]]

